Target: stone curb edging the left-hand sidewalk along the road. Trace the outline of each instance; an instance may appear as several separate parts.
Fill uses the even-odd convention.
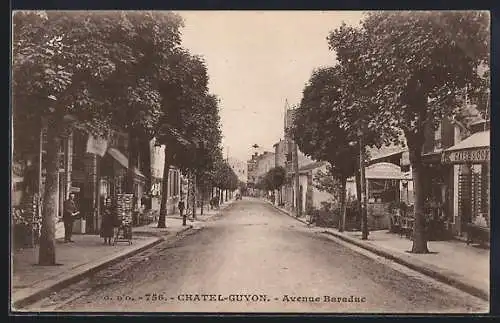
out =
[[[192,226],[183,228],[183,230],[176,232],[172,236],[178,236],[179,234],[181,234],[181,233],[183,233],[185,231],[188,231],[190,229],[192,229]],[[105,267],[109,267],[109,266],[111,266],[111,265],[113,265],[113,264],[115,264],[117,262],[122,261],[123,259],[125,259],[127,257],[134,256],[134,255],[136,255],[138,253],[141,253],[141,252],[145,251],[146,249],[152,248],[152,247],[160,244],[161,242],[167,241],[168,240],[168,236],[169,235],[165,235],[164,237],[158,237],[158,236],[156,236],[156,240],[151,241],[151,242],[145,244],[144,246],[142,246],[142,247],[140,247],[138,249],[131,250],[130,252],[126,252],[126,253],[120,254],[116,258],[109,259],[109,260],[104,261],[102,263],[98,263],[94,267],[88,268],[88,269],[86,269],[86,270],[84,270],[82,272],[79,272],[76,275],[68,277],[67,279],[63,279],[61,281],[58,281],[58,282],[52,284],[51,286],[47,286],[45,288],[41,288],[40,290],[32,293],[31,295],[22,297],[21,299],[18,299],[15,302],[11,303],[11,311],[13,311],[13,312],[14,311],[19,311],[23,307],[26,307],[26,306],[28,306],[30,304],[33,304],[33,303],[35,303],[35,302],[37,302],[37,301],[39,301],[39,300],[41,300],[41,299],[49,296],[53,292],[59,291],[59,290],[65,288],[65,287],[67,287],[68,285],[71,285],[71,284],[74,284],[74,283],[80,281],[82,278],[84,278],[84,276],[87,276],[89,274],[92,274],[94,272],[102,270]]]

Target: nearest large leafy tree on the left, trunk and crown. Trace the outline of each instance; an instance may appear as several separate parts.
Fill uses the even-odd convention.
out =
[[[48,129],[40,264],[55,264],[61,140],[71,128],[106,137],[113,126],[125,126],[150,135],[158,119],[158,80],[170,75],[164,61],[180,42],[180,24],[171,13],[14,15],[16,130],[30,123],[39,128],[42,122]]]

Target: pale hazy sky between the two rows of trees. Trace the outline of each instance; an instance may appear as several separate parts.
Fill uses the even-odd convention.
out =
[[[224,154],[249,159],[283,137],[285,99],[298,104],[314,68],[333,65],[329,31],[355,11],[181,11],[183,46],[205,58],[221,99]]]

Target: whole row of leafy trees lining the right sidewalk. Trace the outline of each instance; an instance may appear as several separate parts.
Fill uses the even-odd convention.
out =
[[[338,64],[313,72],[296,113],[294,138],[328,161],[341,187],[359,183],[367,146],[407,145],[415,190],[412,251],[424,235],[422,149],[428,128],[463,106],[463,91],[489,106],[489,16],[485,12],[371,12],[360,27],[341,25],[327,40]],[[358,184],[358,193],[360,185]],[[358,199],[359,199],[358,195]],[[343,221],[345,222],[345,221]]]

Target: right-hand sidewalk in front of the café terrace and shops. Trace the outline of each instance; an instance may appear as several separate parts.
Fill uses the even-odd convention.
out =
[[[275,206],[276,207],[276,206]],[[277,208],[277,207],[276,207]],[[277,208],[296,220],[282,208]],[[335,236],[343,241],[391,259],[469,294],[489,300],[490,250],[462,241],[429,241],[429,254],[413,254],[413,242],[387,230],[372,231],[368,240],[361,240],[361,232],[338,232],[333,228],[314,227],[315,231]]]

